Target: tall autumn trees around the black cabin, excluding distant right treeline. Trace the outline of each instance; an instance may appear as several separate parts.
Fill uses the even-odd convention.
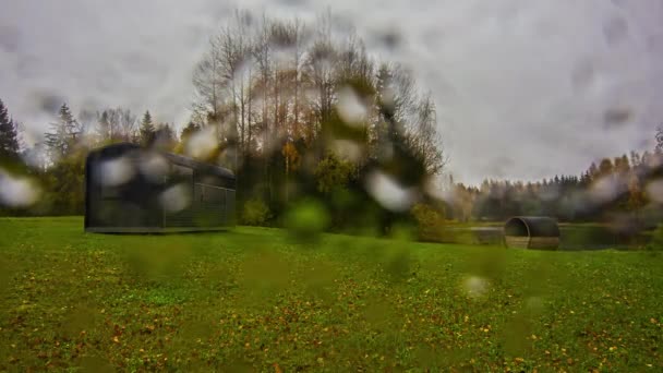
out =
[[[232,169],[246,222],[276,221],[291,202],[314,197],[333,225],[352,216],[388,229],[410,202],[429,198],[423,185],[444,169],[435,104],[407,69],[333,29],[329,14],[308,25],[237,12],[195,68],[196,98],[180,131],[149,111],[74,116],[63,103],[44,141],[12,151],[41,189],[23,214],[81,214],[87,152],[134,142]],[[376,195],[385,183],[408,201],[385,205]],[[370,217],[343,212],[362,201]]]

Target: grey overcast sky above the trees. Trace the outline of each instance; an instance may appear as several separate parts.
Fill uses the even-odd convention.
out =
[[[181,124],[191,72],[233,9],[311,20],[306,0],[0,0],[0,98],[29,133],[67,101]],[[661,0],[336,0],[369,49],[438,105],[457,180],[578,175],[653,147],[663,122]],[[395,48],[385,35],[398,35]]]

